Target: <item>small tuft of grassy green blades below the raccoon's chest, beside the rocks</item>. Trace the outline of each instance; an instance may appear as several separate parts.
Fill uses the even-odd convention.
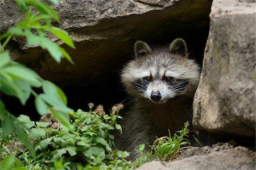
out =
[[[186,146],[189,143],[184,137],[187,136],[189,129],[189,123],[186,122],[182,130],[175,132],[171,136],[170,130],[168,130],[169,136],[163,136],[161,138],[156,138],[155,142],[150,148],[150,152],[154,152],[154,157],[157,160],[167,161],[177,154],[181,146]]]

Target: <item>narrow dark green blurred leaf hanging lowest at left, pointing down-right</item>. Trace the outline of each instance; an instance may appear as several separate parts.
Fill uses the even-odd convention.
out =
[[[26,146],[26,148],[30,151],[32,157],[35,159],[36,154],[35,154],[34,146],[31,143],[30,139],[28,139],[26,132],[23,130],[23,128],[19,126],[18,121],[14,122],[14,129],[16,131],[16,134],[18,135],[20,142],[22,142],[24,146]]]

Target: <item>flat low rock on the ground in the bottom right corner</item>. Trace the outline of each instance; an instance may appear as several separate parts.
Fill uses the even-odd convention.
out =
[[[232,147],[228,143],[218,143],[213,147],[188,148],[180,157],[170,163],[152,161],[137,170],[205,170],[205,169],[255,169],[255,152],[245,147]],[[192,156],[191,156],[192,155]],[[189,157],[187,157],[189,156]],[[181,160],[180,160],[181,159]]]

